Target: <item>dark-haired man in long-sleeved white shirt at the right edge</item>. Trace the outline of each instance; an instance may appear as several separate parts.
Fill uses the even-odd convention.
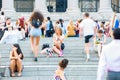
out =
[[[120,28],[113,32],[113,41],[104,46],[98,65],[97,80],[120,80]]]

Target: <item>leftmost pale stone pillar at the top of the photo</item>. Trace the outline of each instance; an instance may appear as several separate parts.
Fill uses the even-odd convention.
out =
[[[2,9],[7,17],[15,16],[14,0],[2,0]]]

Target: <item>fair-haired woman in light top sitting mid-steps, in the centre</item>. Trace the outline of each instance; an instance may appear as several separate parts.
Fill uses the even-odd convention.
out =
[[[64,41],[64,35],[62,34],[62,29],[60,27],[57,27],[55,29],[55,34],[53,35],[53,51],[58,54],[59,57],[63,56],[63,43]]]

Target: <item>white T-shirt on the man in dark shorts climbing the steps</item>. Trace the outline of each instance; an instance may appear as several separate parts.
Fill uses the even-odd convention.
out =
[[[79,28],[83,28],[84,36],[94,35],[94,28],[95,27],[96,27],[95,22],[90,18],[84,19],[79,25]]]

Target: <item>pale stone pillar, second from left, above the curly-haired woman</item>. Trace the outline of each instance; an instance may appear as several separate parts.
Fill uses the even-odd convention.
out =
[[[35,10],[41,11],[43,14],[47,14],[46,0],[35,0]]]

